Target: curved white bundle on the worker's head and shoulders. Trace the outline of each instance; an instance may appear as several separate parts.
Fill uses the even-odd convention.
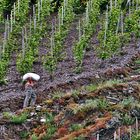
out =
[[[40,76],[36,73],[26,73],[22,79],[23,81],[26,81],[28,78],[32,78],[33,80],[38,81]]]

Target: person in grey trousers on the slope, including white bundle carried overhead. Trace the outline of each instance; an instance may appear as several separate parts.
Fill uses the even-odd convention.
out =
[[[26,73],[23,76],[23,82],[25,82],[25,93],[26,97],[24,99],[23,108],[30,106],[34,106],[36,102],[36,93],[33,89],[36,81],[40,79],[40,76],[35,73]]]

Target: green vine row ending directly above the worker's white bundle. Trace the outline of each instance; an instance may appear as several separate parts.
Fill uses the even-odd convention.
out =
[[[32,70],[33,63],[35,62],[36,56],[38,54],[38,46],[40,43],[40,39],[46,32],[45,18],[50,15],[52,8],[50,6],[50,1],[42,1],[42,2],[43,2],[42,10],[40,15],[41,17],[36,21],[37,23],[36,23],[35,30],[34,30],[34,22],[32,21],[31,23],[31,36],[27,38],[28,46],[26,47],[25,50],[25,56],[23,57],[22,54],[20,54],[17,59],[17,70],[21,74],[25,74]],[[38,7],[37,4],[36,7]],[[36,16],[37,13],[38,13],[38,8],[36,10]],[[42,24],[42,28],[40,28],[40,24]]]

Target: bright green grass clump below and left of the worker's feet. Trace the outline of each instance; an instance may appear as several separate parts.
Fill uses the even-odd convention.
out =
[[[22,113],[20,115],[11,116],[11,122],[14,124],[22,124],[27,120],[28,114]]]

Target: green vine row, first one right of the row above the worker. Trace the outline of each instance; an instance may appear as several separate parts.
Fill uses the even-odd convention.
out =
[[[50,73],[51,79],[53,72],[56,70],[56,65],[59,61],[62,61],[65,57],[64,53],[64,46],[63,41],[68,33],[68,28],[71,22],[74,19],[74,12],[73,12],[73,0],[69,0],[68,4],[65,9],[65,15],[62,22],[62,8],[59,9],[59,16],[60,16],[60,25],[57,26],[57,29],[54,32],[54,42],[55,44],[51,47],[51,52],[44,57],[44,67]],[[51,44],[52,45],[52,44]]]

